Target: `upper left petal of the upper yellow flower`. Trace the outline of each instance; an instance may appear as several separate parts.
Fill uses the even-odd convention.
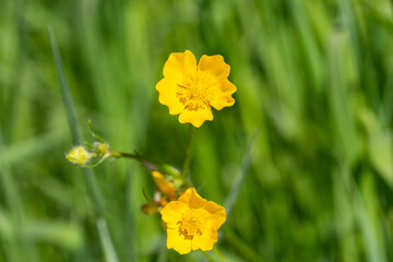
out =
[[[164,76],[184,83],[196,78],[196,59],[190,50],[172,52],[164,66]]]

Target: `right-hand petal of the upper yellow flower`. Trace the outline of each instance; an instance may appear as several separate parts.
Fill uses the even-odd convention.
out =
[[[224,107],[229,107],[235,104],[231,94],[236,92],[236,86],[229,80],[222,80],[214,86],[210,87],[214,93],[214,98],[211,100],[211,106],[221,110]]]

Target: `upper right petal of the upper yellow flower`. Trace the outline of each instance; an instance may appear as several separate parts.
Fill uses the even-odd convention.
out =
[[[229,75],[230,67],[224,62],[223,56],[203,55],[198,64],[199,81],[204,83],[205,87],[216,84],[222,79]]]

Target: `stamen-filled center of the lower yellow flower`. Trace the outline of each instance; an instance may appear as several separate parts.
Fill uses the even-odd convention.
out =
[[[178,222],[179,235],[186,239],[192,239],[194,235],[202,235],[202,227],[206,222],[209,213],[203,209],[191,209],[182,215]]]

